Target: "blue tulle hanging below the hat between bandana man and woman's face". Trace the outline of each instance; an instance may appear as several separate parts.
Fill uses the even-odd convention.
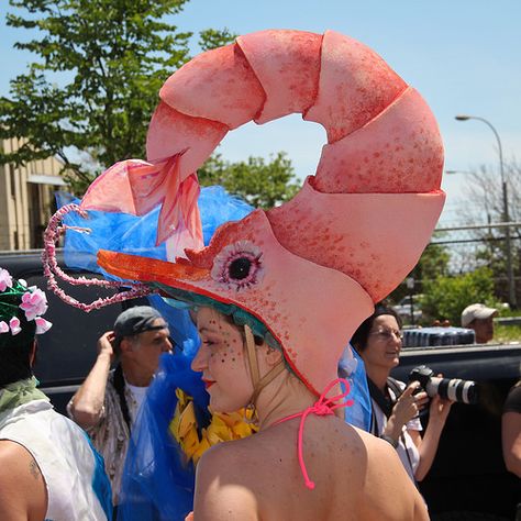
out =
[[[174,313],[179,312],[174,310]],[[170,312],[165,315],[171,319]],[[191,328],[195,329],[193,325]],[[132,432],[118,520],[184,521],[193,508],[193,465],[185,463],[168,425],[177,404],[177,388],[193,397],[198,424],[204,426],[209,423],[208,393],[200,375],[190,369],[197,348],[198,340],[193,331],[192,341],[185,340],[182,351],[162,355],[159,368]]]

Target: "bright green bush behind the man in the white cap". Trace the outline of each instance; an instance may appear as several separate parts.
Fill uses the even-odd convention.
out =
[[[474,302],[496,306],[494,276],[487,267],[464,275],[443,276],[423,285],[422,310],[430,319],[448,319],[459,325],[462,311]]]

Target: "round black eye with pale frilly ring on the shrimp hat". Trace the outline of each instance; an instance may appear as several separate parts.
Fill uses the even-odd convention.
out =
[[[213,260],[211,277],[237,291],[250,288],[262,280],[263,253],[250,241],[239,241],[224,247]]]

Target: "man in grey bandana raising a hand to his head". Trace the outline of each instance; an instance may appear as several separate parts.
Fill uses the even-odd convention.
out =
[[[159,356],[170,352],[168,325],[158,311],[148,306],[123,311],[113,331],[99,339],[96,363],[67,406],[104,458],[114,505],[137,412]]]

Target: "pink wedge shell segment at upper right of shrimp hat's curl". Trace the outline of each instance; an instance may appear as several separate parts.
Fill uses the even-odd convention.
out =
[[[322,43],[319,96],[304,120],[321,123],[334,143],[378,115],[406,82],[366,45],[335,31]]]

